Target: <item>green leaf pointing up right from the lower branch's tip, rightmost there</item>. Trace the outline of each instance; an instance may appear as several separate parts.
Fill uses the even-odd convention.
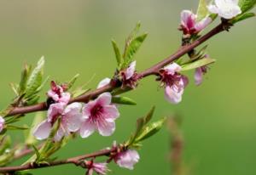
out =
[[[160,131],[160,128],[163,127],[166,121],[166,117],[160,119],[159,121],[155,121],[149,124],[147,127],[143,128],[142,133],[140,133],[136,138],[136,143],[143,141],[146,138],[153,136],[155,133]]]

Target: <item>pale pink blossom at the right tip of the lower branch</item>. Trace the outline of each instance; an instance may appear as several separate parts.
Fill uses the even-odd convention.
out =
[[[140,156],[136,150],[125,150],[119,152],[114,156],[113,160],[119,165],[119,167],[125,167],[133,170],[134,165],[139,161]]]

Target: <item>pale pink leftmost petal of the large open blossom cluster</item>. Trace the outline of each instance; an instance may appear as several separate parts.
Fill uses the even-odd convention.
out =
[[[33,131],[33,135],[39,140],[45,139],[49,137],[49,133],[51,130],[51,124],[47,120],[42,121],[38,127],[36,127]]]

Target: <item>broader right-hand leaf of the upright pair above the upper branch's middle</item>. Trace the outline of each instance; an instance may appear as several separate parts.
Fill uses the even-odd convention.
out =
[[[129,44],[127,45],[126,49],[125,49],[125,53],[124,53],[124,63],[121,66],[121,69],[126,68],[128,65],[131,64],[131,61],[133,59],[134,54],[137,53],[137,50],[141,47],[141,45],[143,44],[144,40],[146,39],[146,37],[148,36],[147,33],[136,37],[134,39],[131,40],[131,42],[129,42]]]

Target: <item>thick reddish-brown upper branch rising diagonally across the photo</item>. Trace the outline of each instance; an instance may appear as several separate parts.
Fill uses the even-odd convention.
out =
[[[193,42],[189,45],[183,46],[182,48],[178,49],[175,54],[172,54],[171,56],[160,61],[158,64],[153,65],[152,67],[148,68],[147,70],[138,73],[138,76],[144,78],[144,77],[151,76],[151,75],[157,75],[157,72],[161,68],[163,68],[165,65],[168,65],[168,64],[172,63],[174,60],[179,59],[184,54],[189,53],[190,50],[201,45],[201,43],[206,42],[209,38],[215,36],[216,34],[218,34],[221,31],[224,31],[225,30],[224,25],[226,25],[226,24],[224,24],[222,22],[221,24],[219,24],[215,28],[213,28],[212,31],[209,31],[206,35],[197,39],[195,42]],[[81,95],[79,97],[71,99],[69,103],[73,103],[73,102],[86,103],[90,99],[96,98],[99,94],[105,93],[105,92],[111,92],[115,88],[119,88],[119,85],[118,84],[112,85],[111,83],[109,83],[105,87],[96,89],[94,91],[90,91],[88,93],[84,93],[84,95]],[[131,90],[131,89],[127,89],[126,91],[129,91],[129,90]],[[30,106],[25,106],[25,107],[15,107],[13,110],[11,110],[9,112],[9,114],[7,116],[15,116],[18,114],[27,114],[27,113],[32,113],[32,112],[47,110],[47,109],[48,109],[47,104],[45,104],[45,102],[43,102],[40,104],[34,104],[34,105],[30,105]]]

